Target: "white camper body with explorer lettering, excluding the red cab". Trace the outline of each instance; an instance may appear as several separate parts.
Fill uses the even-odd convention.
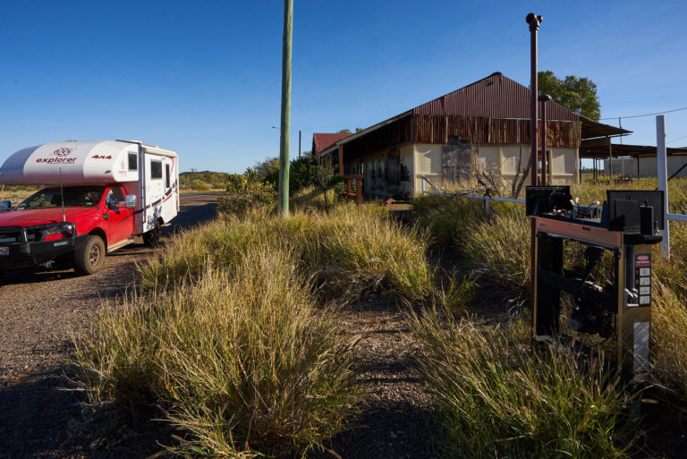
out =
[[[21,149],[0,167],[0,183],[121,183],[127,195],[136,196],[134,234],[154,230],[179,212],[179,157],[134,140],[70,140]]]

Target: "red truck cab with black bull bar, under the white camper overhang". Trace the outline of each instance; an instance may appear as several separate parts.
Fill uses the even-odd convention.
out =
[[[123,185],[50,187],[0,214],[0,276],[51,260],[97,272],[105,255],[133,241],[134,207]]]

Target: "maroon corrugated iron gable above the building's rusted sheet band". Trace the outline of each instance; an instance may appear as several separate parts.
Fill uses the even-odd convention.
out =
[[[547,119],[580,121],[577,115],[554,101],[547,103]],[[440,98],[413,108],[415,115],[471,115],[487,118],[529,118],[530,88],[495,72]]]

